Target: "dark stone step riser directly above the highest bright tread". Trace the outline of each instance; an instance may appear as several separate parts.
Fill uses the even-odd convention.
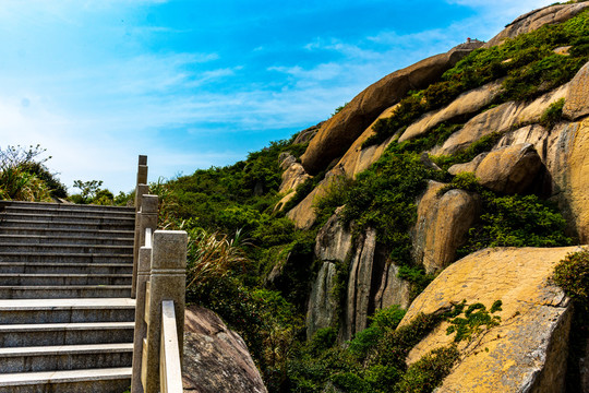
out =
[[[131,285],[0,286],[0,299],[120,298],[131,296]]]

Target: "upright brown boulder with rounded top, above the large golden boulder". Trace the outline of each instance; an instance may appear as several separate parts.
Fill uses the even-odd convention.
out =
[[[430,181],[418,206],[413,255],[426,273],[438,272],[454,261],[480,209],[478,198],[469,192],[449,190],[440,194],[444,186]]]

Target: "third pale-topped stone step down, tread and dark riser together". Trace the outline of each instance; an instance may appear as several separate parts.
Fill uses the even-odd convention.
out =
[[[0,348],[0,372],[130,367],[133,343]]]

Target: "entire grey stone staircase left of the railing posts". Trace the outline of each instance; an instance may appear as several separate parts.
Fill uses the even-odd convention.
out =
[[[2,207],[0,393],[129,389],[134,209]]]

